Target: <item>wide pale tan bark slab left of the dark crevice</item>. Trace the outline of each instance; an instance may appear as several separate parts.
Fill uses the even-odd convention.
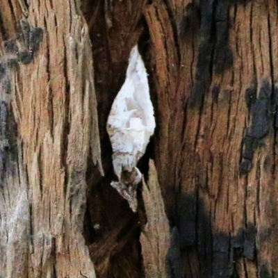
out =
[[[11,2],[0,3],[3,22],[11,8],[19,22]],[[95,277],[82,235],[88,156],[101,170],[88,28],[78,1],[48,0],[30,1],[21,26],[19,40],[3,45],[7,59],[18,55],[21,63],[10,74],[19,156],[3,177],[0,276]],[[6,104],[0,108],[3,139]]]

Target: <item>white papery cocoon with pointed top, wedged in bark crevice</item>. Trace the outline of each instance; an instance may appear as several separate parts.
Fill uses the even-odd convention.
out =
[[[136,189],[142,174],[136,167],[154,133],[154,108],[149,97],[147,71],[136,45],[129,56],[126,79],[115,98],[107,122],[113,147],[113,167],[119,181],[113,186],[137,209]]]

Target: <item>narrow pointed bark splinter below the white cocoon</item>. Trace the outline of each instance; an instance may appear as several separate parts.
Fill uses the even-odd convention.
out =
[[[154,161],[149,161],[149,181],[143,181],[142,197],[147,214],[147,225],[140,236],[142,257],[147,278],[172,277],[170,265],[170,228],[164,211],[161,188]],[[170,260],[170,265],[167,262]]]

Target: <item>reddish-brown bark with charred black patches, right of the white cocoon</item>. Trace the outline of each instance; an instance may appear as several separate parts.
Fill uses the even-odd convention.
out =
[[[186,277],[276,277],[276,1],[156,1],[145,17]]]

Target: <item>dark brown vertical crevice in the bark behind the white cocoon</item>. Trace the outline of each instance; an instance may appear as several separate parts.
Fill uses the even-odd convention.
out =
[[[123,222],[124,218],[131,218],[131,222],[138,218],[138,215],[130,211],[127,202],[110,185],[111,181],[115,179],[115,174],[113,173],[111,158],[111,143],[106,132],[108,114],[110,113],[113,100],[124,82],[127,60],[131,50],[131,42],[125,41],[128,37],[122,36],[122,34],[124,35],[123,31],[121,31],[122,33],[119,33],[119,31],[122,28],[122,22],[129,22],[126,26],[131,25],[133,18],[128,19],[128,17],[129,15],[132,16],[132,13],[127,14],[126,18],[122,18],[121,22],[117,22],[116,11],[117,9],[118,11],[119,9],[123,11],[124,5],[126,5],[124,1],[122,3],[113,2],[111,7],[113,10],[111,10],[109,3],[107,3],[105,9],[104,1],[87,1],[87,3],[83,3],[83,13],[86,14],[85,19],[88,21],[92,42],[98,104],[97,112],[99,115],[99,135],[101,139],[101,159],[105,172],[105,177],[97,178],[98,181],[94,181],[94,177],[92,177],[93,172],[90,172],[89,168],[87,171],[86,179],[90,183],[90,188],[87,193],[88,207],[85,213],[84,237],[87,245],[89,245],[89,249],[92,248],[92,245],[96,247],[96,249],[93,248],[90,254],[92,261],[95,261],[97,277],[115,277],[117,273],[120,277],[129,277],[127,273],[126,276],[124,275],[124,268],[126,268],[126,271],[133,270],[133,277],[140,278],[142,277],[142,262],[140,262],[140,247],[138,246],[138,226],[134,227],[133,224],[128,224],[118,231],[119,235],[124,233],[123,237],[117,236],[116,238],[107,239],[107,236],[117,231],[117,226]],[[134,6],[136,5],[137,2],[136,4],[134,3]],[[134,10],[134,6],[132,3],[130,7],[131,12]],[[111,17],[112,22],[108,22],[109,18],[107,17]],[[95,19],[99,20],[98,24],[94,24]],[[110,24],[113,24],[113,28],[108,26]],[[130,26],[129,29],[133,30],[136,28],[137,25],[133,26],[133,28]],[[133,31],[129,30],[129,32],[132,33]],[[120,49],[117,49],[115,44],[116,33],[118,34],[117,41],[120,40]],[[139,47],[141,46],[140,43]],[[117,53],[115,53],[116,49]],[[143,174],[147,171],[145,161],[147,161],[148,156],[152,156],[150,153],[152,153],[152,150],[148,147],[145,156],[138,163],[138,167],[140,167]],[[91,163],[89,162],[88,166],[90,167],[90,165]],[[140,198],[140,194],[138,198]],[[139,203],[141,204],[141,202]],[[101,254],[104,251],[102,247],[106,248],[108,242],[110,244],[110,246],[107,246],[108,252]],[[111,247],[113,247],[113,250],[111,250]],[[96,250],[99,250],[99,252]],[[133,251],[131,252],[131,250]],[[106,265],[106,260],[109,261],[108,265]],[[123,267],[123,262],[126,263],[125,267]]]

